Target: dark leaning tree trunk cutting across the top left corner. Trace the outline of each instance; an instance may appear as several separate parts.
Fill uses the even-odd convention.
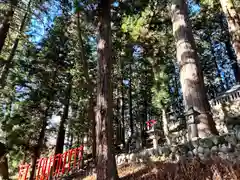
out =
[[[5,44],[10,23],[13,18],[14,10],[18,4],[18,0],[10,0],[10,8],[5,12],[2,22],[0,23],[0,54]]]

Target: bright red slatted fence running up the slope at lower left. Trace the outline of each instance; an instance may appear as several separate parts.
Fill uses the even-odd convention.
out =
[[[50,176],[59,177],[73,170],[80,169],[83,156],[83,146],[70,149],[63,154],[57,154],[37,160],[35,180],[47,180]],[[20,164],[18,180],[27,180],[31,164]]]

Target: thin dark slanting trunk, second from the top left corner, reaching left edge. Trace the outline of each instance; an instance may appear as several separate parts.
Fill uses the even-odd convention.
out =
[[[13,58],[15,56],[15,53],[16,53],[16,50],[17,50],[17,47],[18,47],[18,43],[19,43],[19,40],[20,40],[20,35],[23,33],[23,30],[24,30],[24,27],[25,27],[25,24],[26,24],[26,21],[27,21],[27,18],[28,18],[28,14],[29,14],[29,11],[30,11],[30,8],[31,8],[31,0],[28,2],[28,6],[27,6],[27,12],[25,13],[23,19],[22,19],[22,22],[21,22],[21,25],[20,25],[20,28],[19,28],[19,33],[13,43],[13,46],[12,46],[12,49],[11,49],[11,52],[7,58],[7,61],[5,62],[4,66],[2,67],[2,70],[1,70],[1,75],[0,75],[0,85],[1,87],[0,88],[4,88],[5,87],[5,84],[6,84],[6,81],[7,81],[7,76],[8,76],[8,72],[9,72],[9,69],[11,68],[12,64],[13,64]]]

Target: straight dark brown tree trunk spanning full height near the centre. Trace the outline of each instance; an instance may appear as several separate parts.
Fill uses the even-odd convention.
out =
[[[112,134],[112,44],[110,0],[99,1],[98,79],[97,79],[97,180],[119,179]]]

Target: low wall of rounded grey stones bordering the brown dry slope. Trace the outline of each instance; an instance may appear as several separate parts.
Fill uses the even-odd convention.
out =
[[[226,134],[197,139],[177,146],[159,146],[158,149],[144,149],[138,153],[116,155],[117,164],[129,162],[145,162],[155,157],[158,160],[176,161],[181,157],[192,158],[199,156],[208,159],[218,155],[223,159],[236,162],[240,160],[240,134]]]

